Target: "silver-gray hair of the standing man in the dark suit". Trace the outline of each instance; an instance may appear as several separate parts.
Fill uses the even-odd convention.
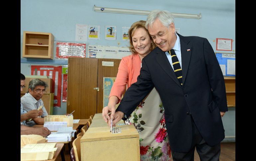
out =
[[[149,26],[152,28],[152,25],[156,19],[159,19],[159,21],[167,28],[169,28],[171,23],[174,23],[173,14],[171,12],[153,10],[149,13],[147,18],[147,22],[146,22],[147,30]]]

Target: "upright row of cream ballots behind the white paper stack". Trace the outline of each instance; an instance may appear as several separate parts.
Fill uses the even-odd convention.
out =
[[[62,121],[67,122],[67,127],[73,127],[73,115],[47,115],[44,117],[44,122]]]

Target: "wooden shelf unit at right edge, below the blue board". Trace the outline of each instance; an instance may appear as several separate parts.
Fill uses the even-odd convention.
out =
[[[224,77],[226,96],[227,96],[227,107],[235,107],[235,77]]]

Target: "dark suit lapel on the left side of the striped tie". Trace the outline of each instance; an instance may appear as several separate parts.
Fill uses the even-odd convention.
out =
[[[175,81],[175,83],[177,83],[182,88],[181,83],[177,79],[177,76],[175,75],[173,68],[172,68],[165,52],[163,52],[161,49],[159,49],[156,53],[158,53],[156,56],[156,60],[159,63],[159,65]]]

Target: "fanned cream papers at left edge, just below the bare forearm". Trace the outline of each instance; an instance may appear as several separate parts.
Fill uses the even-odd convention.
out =
[[[40,135],[20,135],[20,147],[26,144],[44,143],[46,139]]]

